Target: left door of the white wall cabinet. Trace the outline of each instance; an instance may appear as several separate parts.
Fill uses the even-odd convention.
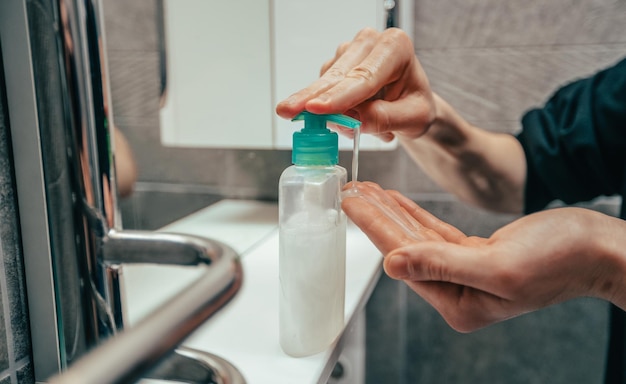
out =
[[[269,0],[164,0],[161,141],[271,148]]]

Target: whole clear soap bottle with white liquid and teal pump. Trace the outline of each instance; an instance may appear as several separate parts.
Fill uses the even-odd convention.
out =
[[[346,217],[338,136],[326,122],[359,128],[344,115],[302,112],[293,134],[293,165],[279,181],[279,339],[285,353],[323,351],[344,326]]]

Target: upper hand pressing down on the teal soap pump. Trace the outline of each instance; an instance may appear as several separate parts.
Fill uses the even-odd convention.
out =
[[[435,101],[410,37],[397,28],[368,28],[339,46],[317,81],[276,107],[283,118],[303,110],[345,113],[362,122],[363,133],[390,141],[396,134],[421,136],[433,122]]]

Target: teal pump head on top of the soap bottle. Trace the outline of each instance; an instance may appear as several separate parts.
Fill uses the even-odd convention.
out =
[[[339,136],[326,128],[330,121],[351,129],[361,127],[361,122],[351,117],[330,114],[318,115],[303,111],[292,121],[304,120],[304,128],[293,134],[291,160],[295,165],[335,165],[339,162]]]

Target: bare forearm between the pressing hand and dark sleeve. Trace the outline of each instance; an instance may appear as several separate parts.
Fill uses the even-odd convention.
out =
[[[407,153],[462,201],[499,212],[522,212],[526,161],[517,140],[472,126],[437,95],[435,102],[436,119],[423,136],[399,136]]]

